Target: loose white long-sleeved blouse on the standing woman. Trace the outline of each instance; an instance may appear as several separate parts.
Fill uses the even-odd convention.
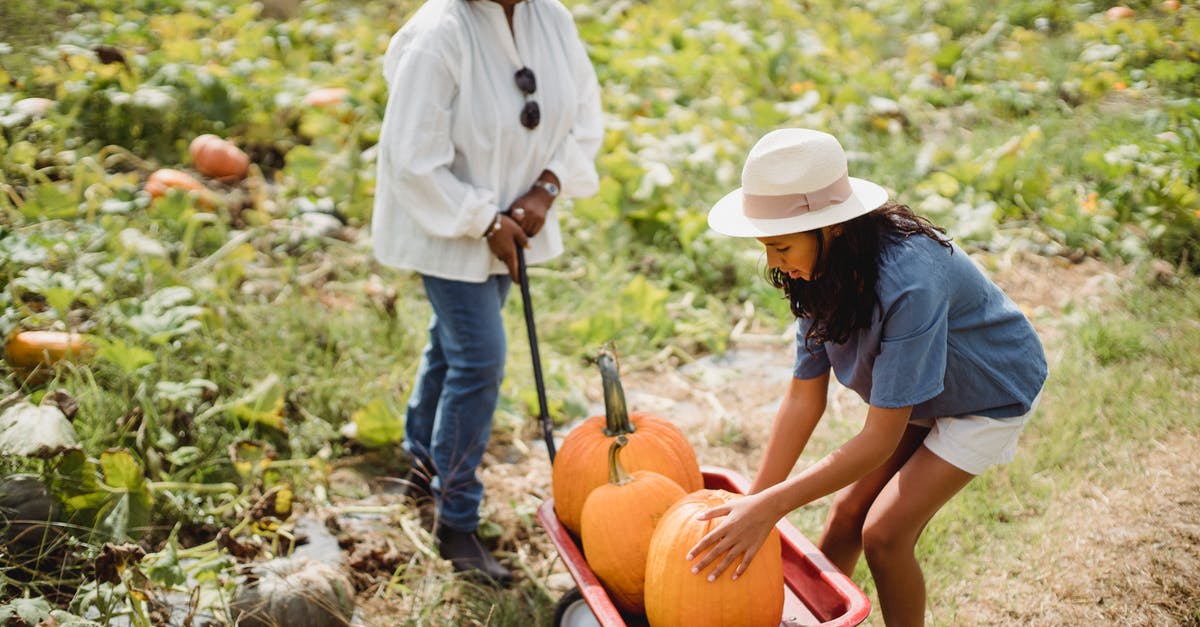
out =
[[[541,123],[521,125],[529,67]],[[428,0],[384,58],[388,109],[379,137],[371,233],[376,257],[458,281],[508,274],[484,233],[544,169],[562,197],[599,189],[600,85],[571,13],[558,0],[522,0],[512,31],[491,0]],[[527,263],[563,252],[558,203],[526,250]]]

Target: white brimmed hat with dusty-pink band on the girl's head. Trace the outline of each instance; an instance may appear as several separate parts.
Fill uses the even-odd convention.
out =
[[[708,226],[737,238],[786,235],[852,220],[887,201],[887,190],[850,175],[834,136],[780,129],[750,149],[742,187],[713,205]]]

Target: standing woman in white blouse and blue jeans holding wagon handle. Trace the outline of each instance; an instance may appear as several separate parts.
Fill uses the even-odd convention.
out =
[[[599,84],[558,0],[430,0],[392,36],[384,74],[372,241],[380,262],[420,274],[433,307],[404,449],[416,490],[437,498],[442,555],[504,583],[475,536],[500,311],[517,247],[530,264],[560,255],[554,202],[599,187]]]

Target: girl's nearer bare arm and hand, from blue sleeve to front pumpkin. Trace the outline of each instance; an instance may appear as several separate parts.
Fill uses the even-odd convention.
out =
[[[737,579],[750,566],[772,527],[788,512],[857,482],[887,461],[900,443],[911,413],[912,407],[872,405],[858,435],[796,477],[702,512],[696,516],[698,520],[726,518],[688,551],[688,560],[700,556],[691,571],[700,573],[716,562],[708,573],[712,581],[736,563],[733,579]]]

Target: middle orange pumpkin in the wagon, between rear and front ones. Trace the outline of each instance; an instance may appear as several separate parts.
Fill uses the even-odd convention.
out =
[[[620,435],[608,448],[608,483],[592,490],[583,503],[580,537],[592,572],[620,609],[646,610],[646,555],[650,536],[662,514],[686,492],[679,484],[650,471],[626,473],[620,449],[629,437]]]

